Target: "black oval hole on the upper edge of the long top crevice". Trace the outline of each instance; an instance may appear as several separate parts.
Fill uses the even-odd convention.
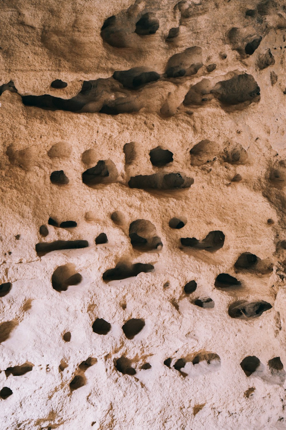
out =
[[[160,74],[154,71],[146,71],[142,67],[134,67],[129,70],[116,71],[112,77],[126,88],[135,89],[160,79]]]

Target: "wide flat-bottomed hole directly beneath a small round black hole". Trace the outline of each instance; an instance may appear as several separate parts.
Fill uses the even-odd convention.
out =
[[[158,172],[153,175],[131,176],[128,185],[130,188],[143,190],[176,190],[179,188],[189,188],[193,183],[193,178],[188,178],[184,173]]]

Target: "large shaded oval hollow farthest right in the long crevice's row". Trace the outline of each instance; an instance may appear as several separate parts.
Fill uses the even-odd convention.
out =
[[[260,88],[249,74],[240,74],[231,79],[220,81],[216,84],[211,94],[223,104],[236,105],[239,103],[260,100]]]

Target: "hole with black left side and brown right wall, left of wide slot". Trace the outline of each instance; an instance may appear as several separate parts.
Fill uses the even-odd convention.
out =
[[[111,160],[99,160],[96,166],[82,174],[82,182],[89,187],[97,184],[110,184],[117,179],[117,169]]]

